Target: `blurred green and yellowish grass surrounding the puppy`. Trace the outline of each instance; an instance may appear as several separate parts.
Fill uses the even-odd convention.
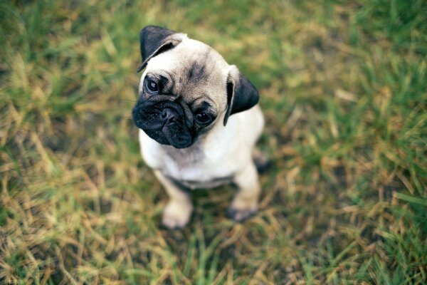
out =
[[[425,1],[232,2],[0,2],[0,283],[425,284]],[[130,119],[147,24],[259,88],[253,219],[220,187],[159,227]]]

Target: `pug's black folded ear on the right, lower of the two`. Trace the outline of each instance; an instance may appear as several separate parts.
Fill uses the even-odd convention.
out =
[[[251,81],[238,71],[236,66],[231,66],[227,77],[227,110],[224,125],[228,117],[248,110],[258,103],[260,95]]]

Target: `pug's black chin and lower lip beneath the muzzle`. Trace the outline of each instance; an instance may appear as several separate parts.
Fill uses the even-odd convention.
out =
[[[175,148],[190,147],[194,142],[190,133],[177,131],[174,128],[164,127],[161,130],[144,130],[144,132],[159,144],[172,145]]]

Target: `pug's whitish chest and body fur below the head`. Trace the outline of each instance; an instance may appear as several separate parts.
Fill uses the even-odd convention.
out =
[[[139,130],[142,157],[149,167],[181,181],[187,187],[213,187],[233,177],[252,159],[252,149],[263,129],[257,106],[222,120],[194,145],[176,149],[160,145]]]

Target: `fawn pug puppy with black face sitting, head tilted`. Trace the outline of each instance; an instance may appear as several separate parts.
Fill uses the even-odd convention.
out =
[[[255,150],[264,119],[255,87],[213,48],[158,26],[140,33],[139,98],[132,118],[144,161],[170,199],[162,223],[184,227],[191,191],[233,182],[238,187],[228,215],[236,222],[258,209]]]

